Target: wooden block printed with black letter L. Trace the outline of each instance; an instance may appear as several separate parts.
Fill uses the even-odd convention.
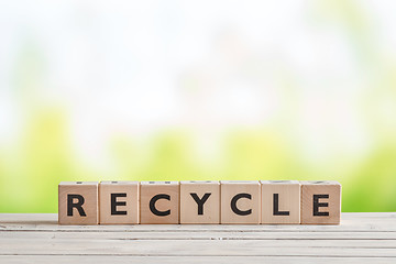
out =
[[[261,180],[262,223],[300,223],[298,180]]]

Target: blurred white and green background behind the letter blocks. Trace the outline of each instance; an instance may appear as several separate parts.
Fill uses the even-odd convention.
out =
[[[334,179],[396,211],[395,8],[3,1],[0,212],[110,179]]]

